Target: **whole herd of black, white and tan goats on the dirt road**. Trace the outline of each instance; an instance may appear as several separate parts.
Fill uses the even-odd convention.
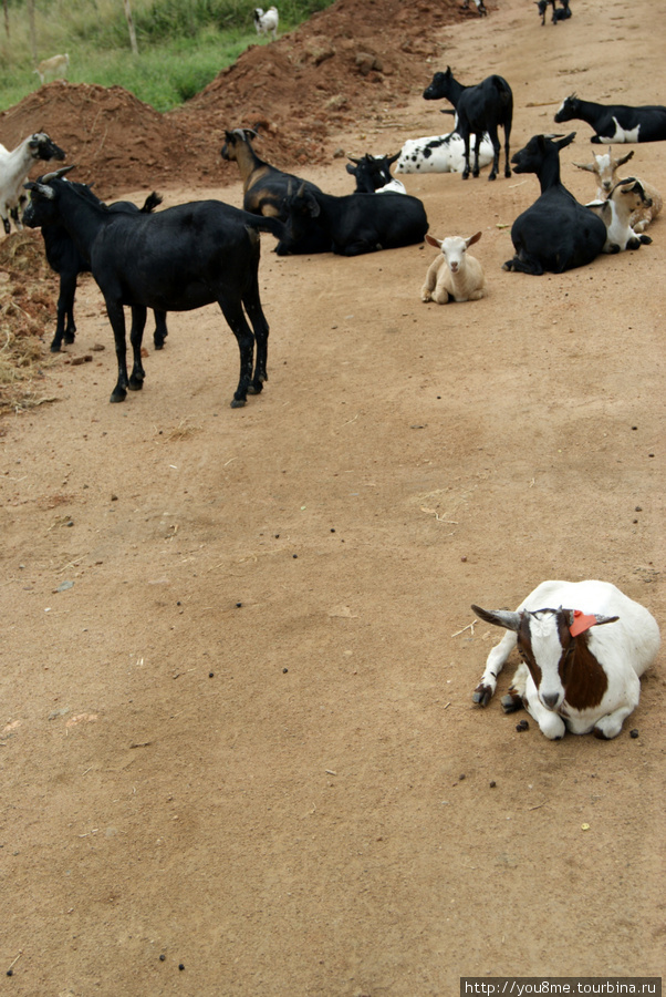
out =
[[[481,11],[482,2],[477,7]],[[633,152],[614,158],[608,148],[592,163],[576,164],[599,181],[597,199],[583,205],[560,179],[559,154],[575,133],[535,135],[509,158],[513,101],[501,76],[465,86],[447,69],[435,74],[424,97],[448,99],[454,105],[454,132],[410,140],[394,156],[353,160],[347,169],[356,191],[346,196],[325,194],[315,184],[260,160],[251,144],[254,132],[227,131],[221,155],[240,169],[242,210],[208,201],[154,213],[159,204],[156,195],[141,209],[126,202],[106,206],[90,187],[65,178],[72,167],[25,182],[33,161],[65,157],[45,133],[29,136],[11,153],[0,147],[0,212],[6,232],[10,217],[21,224],[25,187],[31,199],[23,222],[41,227],[49,263],[61,277],[51,349],[60,350],[63,339],[73,341],[76,275],[92,271],[113,327],[118,376],[111,401],[119,402],[127,389],[143,387],[141,346],[147,309],[155,311],[159,349],[167,335],[167,311],[217,301],[240,351],[240,379],[231,404],[243,405],[248,393],[259,393],[267,378],[269,330],[258,279],[260,232],[278,239],[279,254],[355,256],[427,239],[441,253],[428,268],[422,299],[476,300],[483,295],[483,271],[466,250],[481,233],[470,238],[431,237],[424,205],[406,194],[389,167],[397,163],[396,172],[403,173],[459,171],[467,178],[470,172],[477,176],[483,162],[491,162],[489,179],[495,179],[499,127],[504,132],[504,175],[511,175],[511,163],[517,173],[537,174],[541,185],[541,196],[513,223],[516,254],[503,265],[506,270],[560,274],[591,263],[600,253],[636,249],[651,241],[644,229],[658,213],[660,196],[636,177],[616,175]],[[666,107],[662,106],[603,106],[572,95],[560,106],[555,122],[572,119],[592,125],[595,143],[666,141]],[[132,309],[129,376],[125,305]],[[486,706],[490,700],[497,676],[518,645],[522,664],[502,700],[506,711],[524,706],[551,739],[561,738],[565,729],[594,731],[601,738],[620,733],[638,702],[638,677],[659,647],[659,630],[647,609],[613,585],[592,580],[544,582],[514,613],[472,608],[509,631],[488,656],[475,702]]]

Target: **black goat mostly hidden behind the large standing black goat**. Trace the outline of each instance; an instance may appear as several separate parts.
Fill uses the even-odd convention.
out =
[[[101,204],[86,184],[73,184],[84,196]],[[150,214],[162,204],[162,197],[153,192],[146,197],[143,207],[138,208],[131,201],[117,201],[108,205],[110,212],[125,212],[126,214]],[[66,343],[74,342],[76,323],[74,321],[74,298],[76,296],[76,277],[79,274],[90,274],[90,259],[85,259],[76,248],[72,236],[62,222],[49,222],[50,207],[44,202],[35,202],[30,217],[25,224],[31,228],[41,228],[44,239],[46,259],[52,270],[60,275],[60,292],[58,297],[58,318],[55,321],[55,335],[51,343],[51,352],[60,352],[63,339]],[[168,335],[166,314],[155,312],[155,332],[153,341],[155,349],[160,350]]]

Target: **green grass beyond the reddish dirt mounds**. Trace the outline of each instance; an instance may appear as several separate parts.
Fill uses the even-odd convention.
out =
[[[280,32],[331,2],[282,0]],[[254,32],[252,6],[239,0],[133,0],[132,9],[138,55],[121,0],[41,0],[38,59],[67,52],[71,83],[119,85],[164,112],[204,90],[248,45],[270,43]],[[39,88],[23,0],[10,0],[9,17],[9,39],[0,17],[0,110]]]

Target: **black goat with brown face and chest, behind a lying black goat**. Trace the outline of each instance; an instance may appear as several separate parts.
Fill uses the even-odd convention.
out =
[[[222,160],[238,163],[243,187],[243,209],[253,215],[267,215],[285,220],[284,202],[293,189],[302,184],[305,184],[305,189],[311,193],[319,193],[320,188],[310,181],[294,176],[293,173],[283,173],[270,163],[264,163],[252,148],[250,136],[257,136],[257,132],[252,129],[226,131],[220,155]],[[323,233],[318,232],[316,225],[313,225],[309,239],[303,240],[299,249],[294,249],[289,240],[281,238],[275,246],[275,253],[278,256],[294,251],[326,253],[330,248],[330,240]]]

